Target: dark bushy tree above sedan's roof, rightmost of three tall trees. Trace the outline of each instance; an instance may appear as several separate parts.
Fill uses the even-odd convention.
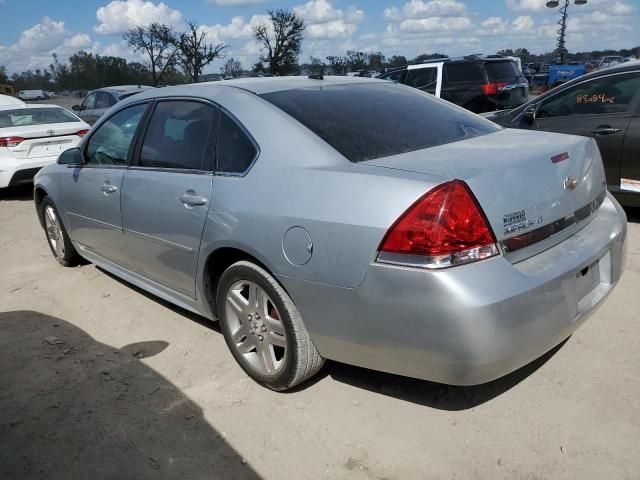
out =
[[[272,74],[286,75],[298,63],[305,23],[293,10],[279,8],[267,13],[270,23],[257,25],[253,30],[256,40],[266,49],[260,60],[269,65]]]

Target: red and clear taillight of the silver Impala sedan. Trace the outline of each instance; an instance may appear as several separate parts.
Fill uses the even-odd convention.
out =
[[[378,261],[444,268],[498,254],[487,219],[466,183],[437,186],[391,226],[379,247]]]

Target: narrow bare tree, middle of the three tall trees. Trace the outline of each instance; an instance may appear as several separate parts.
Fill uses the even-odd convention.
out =
[[[188,31],[180,34],[178,39],[178,63],[192,82],[198,81],[198,76],[204,67],[216,58],[224,58],[222,51],[227,48],[224,43],[214,45],[207,43],[207,32],[197,23],[187,20]]]

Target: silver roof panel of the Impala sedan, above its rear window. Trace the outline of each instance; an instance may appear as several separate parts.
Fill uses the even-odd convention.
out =
[[[338,75],[326,75],[322,80],[315,78],[300,76],[291,77],[249,77],[235,80],[221,80],[218,82],[202,82],[194,83],[190,86],[224,86],[235,87],[247,90],[257,95],[269,92],[279,92],[283,90],[295,90],[298,88],[307,87],[325,87],[329,85],[351,85],[356,83],[366,82],[384,82],[384,80],[377,80],[375,78],[366,77],[347,77]],[[186,87],[187,85],[185,85]],[[178,89],[181,86],[171,87],[172,89]]]

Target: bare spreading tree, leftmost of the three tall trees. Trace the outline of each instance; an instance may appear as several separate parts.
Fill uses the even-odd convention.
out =
[[[177,61],[179,45],[175,32],[167,25],[152,23],[134,27],[122,38],[134,52],[142,50],[146,53],[153,86],[158,86],[167,69]]]

